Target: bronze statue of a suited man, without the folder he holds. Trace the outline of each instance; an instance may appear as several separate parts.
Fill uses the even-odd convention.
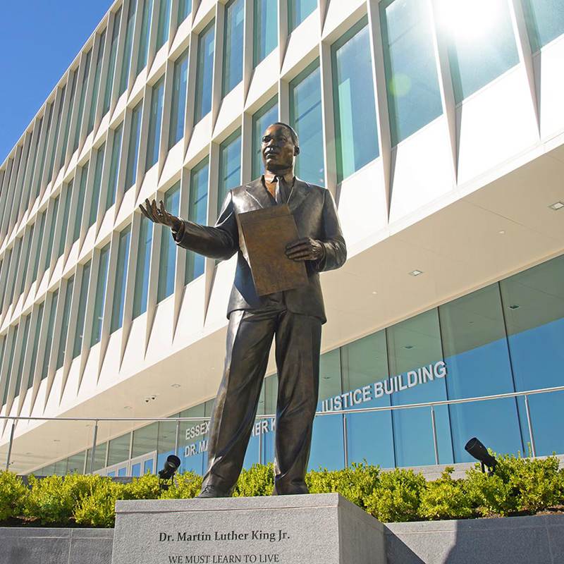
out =
[[[261,151],[264,174],[228,193],[214,227],[169,214],[162,200],[159,207],[155,200],[145,200],[145,208],[140,205],[147,218],[171,228],[180,247],[214,259],[238,254],[228,305],[225,368],[209,427],[201,498],[226,497],[233,491],[257,415],[273,338],[278,368],[273,494],[308,492],[305,473],[317,407],[321,324],[326,321],[319,272],[342,266],[347,251],[329,190],[294,176],[300,147],[293,128],[270,125]],[[245,243],[239,239],[237,216],[279,204],[288,204],[300,235],[286,247],[286,256],[305,262],[307,284],[259,296]]]

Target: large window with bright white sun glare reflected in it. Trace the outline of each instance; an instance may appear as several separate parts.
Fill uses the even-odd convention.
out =
[[[519,62],[507,1],[439,0],[436,14],[457,104]]]

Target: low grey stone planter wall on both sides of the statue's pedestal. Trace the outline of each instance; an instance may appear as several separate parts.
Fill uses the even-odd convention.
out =
[[[564,563],[564,515],[385,527],[387,564]],[[0,564],[111,564],[113,540],[113,529],[0,528]]]

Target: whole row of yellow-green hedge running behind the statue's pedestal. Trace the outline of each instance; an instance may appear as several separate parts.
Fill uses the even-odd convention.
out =
[[[483,474],[479,465],[463,479],[453,479],[447,467],[434,482],[422,474],[396,469],[381,472],[366,463],[344,470],[308,472],[312,494],[338,492],[382,522],[466,519],[534,515],[564,509],[564,470],[558,458],[543,460],[513,455],[498,457],[496,472]],[[117,499],[192,498],[202,477],[178,474],[166,491],[159,478],[146,474],[130,484],[96,475],[30,477],[30,487],[11,472],[0,472],[0,525],[113,527]],[[272,465],[243,470],[233,496],[268,496],[274,486]]]

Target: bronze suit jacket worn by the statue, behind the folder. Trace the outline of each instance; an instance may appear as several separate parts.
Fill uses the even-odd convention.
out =
[[[337,269],[347,257],[345,240],[341,234],[337,209],[329,190],[295,179],[288,200],[300,238],[311,237],[323,243],[325,257],[307,261],[307,286],[285,292],[259,296],[255,291],[248,262],[247,249],[239,237],[237,214],[276,205],[266,192],[262,178],[233,188],[223,202],[214,227],[183,221],[173,238],[180,247],[215,259],[228,259],[238,253],[235,281],[229,298],[227,317],[237,309],[281,309],[282,304],[293,313],[319,317],[324,323],[325,309],[319,272]],[[273,233],[276,236],[276,233]]]

